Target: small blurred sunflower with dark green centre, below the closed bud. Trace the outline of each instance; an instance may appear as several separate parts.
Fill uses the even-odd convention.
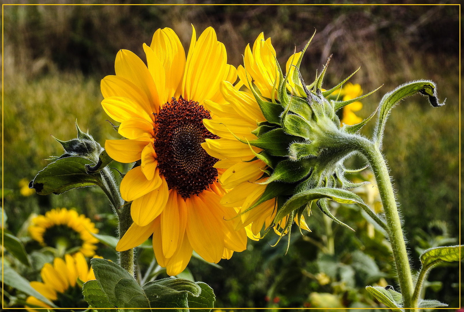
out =
[[[76,210],[56,208],[38,215],[32,219],[29,233],[32,239],[42,246],[64,248],[64,250],[79,247],[84,256],[95,254],[98,240],[91,233],[98,233],[95,224],[85,215],[78,215]]]

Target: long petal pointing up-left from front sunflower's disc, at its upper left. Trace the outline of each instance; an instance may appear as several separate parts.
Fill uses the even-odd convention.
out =
[[[160,98],[155,82],[143,61],[129,50],[119,50],[115,61],[116,76],[121,76],[135,84],[147,95],[152,112],[160,112]]]

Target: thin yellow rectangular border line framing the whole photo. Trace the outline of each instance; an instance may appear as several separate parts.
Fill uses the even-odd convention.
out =
[[[2,203],[2,216],[1,216],[1,221],[2,221],[2,228],[3,228],[3,172],[4,172],[4,168],[3,168],[3,127],[4,127],[4,122],[3,122],[3,104],[4,104],[4,100],[3,100],[3,94],[4,94],[4,87],[3,87],[3,80],[4,80],[4,75],[3,75],[3,71],[4,71],[4,62],[3,62],[3,57],[4,57],[4,40],[3,40],[3,29],[4,29],[4,22],[3,22],[3,17],[4,17],[4,13],[3,13],[3,8],[4,6],[458,6],[459,7],[459,245],[461,245],[461,4],[420,4],[420,3],[417,3],[417,4],[2,4],[2,8],[1,8],[1,13],[2,13],[2,16],[1,16],[1,20],[2,20],[2,26],[1,26],[1,36],[2,36],[2,56],[1,56],[1,60],[2,60],[2,69],[1,69],[1,76],[2,76],[2,79],[1,79],[1,85],[2,85],[2,115],[1,115],[1,118],[2,118],[2,128],[1,128],[1,132],[2,132],[2,137],[1,137],[1,142],[2,142],[2,146],[1,146],[1,168],[2,168],[2,172],[1,172],[1,181],[2,181],[2,185],[1,185],[1,194],[2,194],[2,198],[1,198],[1,203]],[[2,246],[3,246],[3,230],[2,230],[2,233],[1,233],[1,239],[2,239]],[[4,286],[3,286],[3,249],[2,248],[2,297],[3,297],[3,290],[4,290]],[[461,248],[459,248],[459,259],[461,259]],[[461,261],[459,261],[459,307],[455,307],[455,308],[436,308],[438,310],[455,310],[455,309],[459,309],[461,307]],[[2,300],[2,309],[4,309],[3,307],[3,300]],[[13,308],[11,308],[13,309]],[[14,308],[14,309],[18,309],[18,310],[26,310],[27,308]],[[38,309],[38,308],[36,308]],[[63,309],[63,310],[70,310],[70,309],[75,309],[75,308],[60,308],[60,309]],[[106,308],[106,309],[110,309],[110,310],[113,310],[113,309],[122,309],[122,310],[125,310],[125,309],[131,309],[131,308]],[[133,308],[132,308],[133,309]],[[171,310],[171,308],[157,308],[157,309],[169,309]],[[184,308],[180,308],[180,309],[184,309]],[[186,308],[187,309],[187,308]],[[301,310],[313,310],[313,309],[319,309],[319,308],[282,308],[282,307],[274,307],[274,308],[220,308],[222,310],[231,310],[231,309],[235,309],[235,310],[251,310],[251,309],[260,309],[260,310],[275,310],[275,309],[280,309],[280,310],[294,310],[294,309],[301,309]],[[350,309],[361,309],[361,310],[365,310],[365,309],[372,309],[372,308],[331,308],[332,310],[350,310]],[[380,310],[389,310],[388,308],[376,308],[376,309],[380,309]],[[412,308],[404,308],[405,310],[412,310]],[[424,308],[418,308],[419,310],[423,310]],[[9,308],[8,308],[9,310]],[[39,310],[42,310],[42,309],[39,309]],[[214,308],[212,310],[215,310]]]

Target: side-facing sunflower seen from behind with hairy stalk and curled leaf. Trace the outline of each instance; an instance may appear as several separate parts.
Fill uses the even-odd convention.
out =
[[[205,101],[214,115],[203,123],[220,138],[206,139],[202,145],[209,155],[220,159],[214,166],[226,170],[219,182],[226,189],[234,188],[221,203],[241,206],[238,228],[251,223],[255,235],[259,235],[263,226],[265,233],[274,228],[281,237],[288,233],[289,240],[294,221],[300,228],[307,228],[303,213],[310,215],[313,203],[346,227],[331,214],[327,201],[357,204],[385,230],[392,245],[402,299],[401,303],[388,306],[416,307],[406,244],[380,146],[387,116],[403,98],[419,92],[428,96],[433,106],[443,105],[438,103],[435,84],[421,80],[387,93],[377,109],[377,129],[369,140],[359,131],[377,110],[365,120],[343,115],[350,119],[347,123],[341,123],[336,112],[357,103],[358,107],[347,110],[348,115],[354,115],[353,111],[360,108],[358,101],[376,90],[359,96],[360,88],[354,90],[349,85],[351,92],[341,101],[337,98],[329,102],[327,97],[352,75],[329,90],[323,89],[329,58],[316,80],[305,84],[299,66],[308,45],[302,52],[290,56],[284,77],[271,40],[264,40],[260,34],[252,51],[249,46],[245,49],[245,68],[238,68],[238,76],[249,92],[238,91],[232,84],[223,82],[221,92],[230,104]],[[351,94],[353,91],[357,93],[355,96]],[[344,177],[355,172],[343,165],[353,153],[365,156],[374,171],[384,217],[375,214],[358,195],[348,190],[363,184],[349,182]]]

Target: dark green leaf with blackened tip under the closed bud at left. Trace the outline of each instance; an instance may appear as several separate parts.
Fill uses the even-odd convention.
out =
[[[98,174],[88,174],[85,165],[90,165],[91,160],[70,156],[58,159],[39,171],[29,187],[35,189],[39,195],[61,194],[70,189],[85,186],[100,185],[101,178]]]

